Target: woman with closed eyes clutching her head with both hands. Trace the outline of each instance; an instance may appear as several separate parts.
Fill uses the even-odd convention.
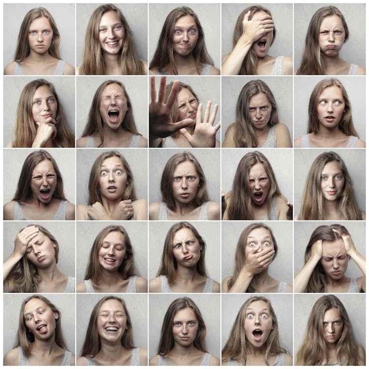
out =
[[[350,258],[363,277],[345,276]],[[305,265],[294,280],[294,292],[365,292],[366,265],[343,225],[321,225],[311,234],[305,250]]]

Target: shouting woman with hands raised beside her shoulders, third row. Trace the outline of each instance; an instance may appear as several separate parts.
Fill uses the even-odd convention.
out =
[[[254,151],[240,160],[232,191],[222,194],[223,220],[291,220],[292,205],[279,191],[264,154]]]

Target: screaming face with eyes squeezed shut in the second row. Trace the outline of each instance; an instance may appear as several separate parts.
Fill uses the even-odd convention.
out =
[[[122,87],[116,83],[106,86],[101,95],[99,108],[102,122],[110,129],[118,129],[128,109]]]

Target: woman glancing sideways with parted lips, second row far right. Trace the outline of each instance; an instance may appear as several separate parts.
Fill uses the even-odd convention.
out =
[[[310,95],[307,135],[295,147],[365,147],[354,128],[347,92],[337,78],[320,81]]]

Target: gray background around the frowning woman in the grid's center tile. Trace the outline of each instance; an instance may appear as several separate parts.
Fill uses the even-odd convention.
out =
[[[174,154],[189,152],[200,163],[207,181],[208,194],[212,201],[220,202],[220,150],[217,149],[150,149],[149,189],[150,203],[161,201],[160,181],[165,164]]]

